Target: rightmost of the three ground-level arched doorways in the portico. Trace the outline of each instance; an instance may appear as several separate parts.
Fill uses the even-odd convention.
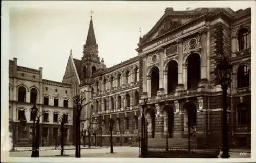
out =
[[[193,102],[186,102],[183,105],[184,110],[184,135],[188,136],[188,128],[196,131],[197,126],[197,107]]]

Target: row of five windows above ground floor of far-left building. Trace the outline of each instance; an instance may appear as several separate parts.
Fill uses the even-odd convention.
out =
[[[18,120],[22,119],[23,117],[26,117],[25,111],[24,110],[18,110]],[[35,118],[35,114],[30,112],[30,121],[33,121],[34,118]],[[68,122],[68,114],[63,114],[62,118],[63,118],[64,122]],[[49,113],[48,112],[43,112],[42,113],[42,121],[43,122],[49,122]],[[62,119],[60,120],[59,114],[54,113],[53,114],[53,122],[60,122],[60,121],[62,121]]]

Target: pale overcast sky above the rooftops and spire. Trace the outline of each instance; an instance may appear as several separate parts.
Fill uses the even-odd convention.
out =
[[[16,1],[9,8],[9,59],[18,65],[38,69],[43,78],[62,81],[72,49],[81,59],[86,41],[90,10],[100,58],[108,67],[137,55],[139,28],[146,34],[164,14],[166,7],[230,7],[245,9],[251,3],[233,2],[90,2],[90,1]],[[201,6],[198,6],[201,5]],[[4,15],[5,16],[5,15]]]

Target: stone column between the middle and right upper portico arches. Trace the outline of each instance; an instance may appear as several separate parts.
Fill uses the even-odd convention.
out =
[[[183,40],[179,39],[176,41],[178,46],[178,86],[176,90],[184,89],[184,81],[183,81]]]

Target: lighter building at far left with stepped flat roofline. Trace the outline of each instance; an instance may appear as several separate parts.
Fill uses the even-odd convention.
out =
[[[42,68],[31,69],[17,65],[17,58],[9,60],[9,122],[15,146],[31,145],[33,139],[33,114],[31,108],[40,110],[40,144],[60,144],[60,117],[65,124],[65,142],[72,144],[73,89],[70,84],[42,78]],[[20,120],[26,117],[26,125]]]

